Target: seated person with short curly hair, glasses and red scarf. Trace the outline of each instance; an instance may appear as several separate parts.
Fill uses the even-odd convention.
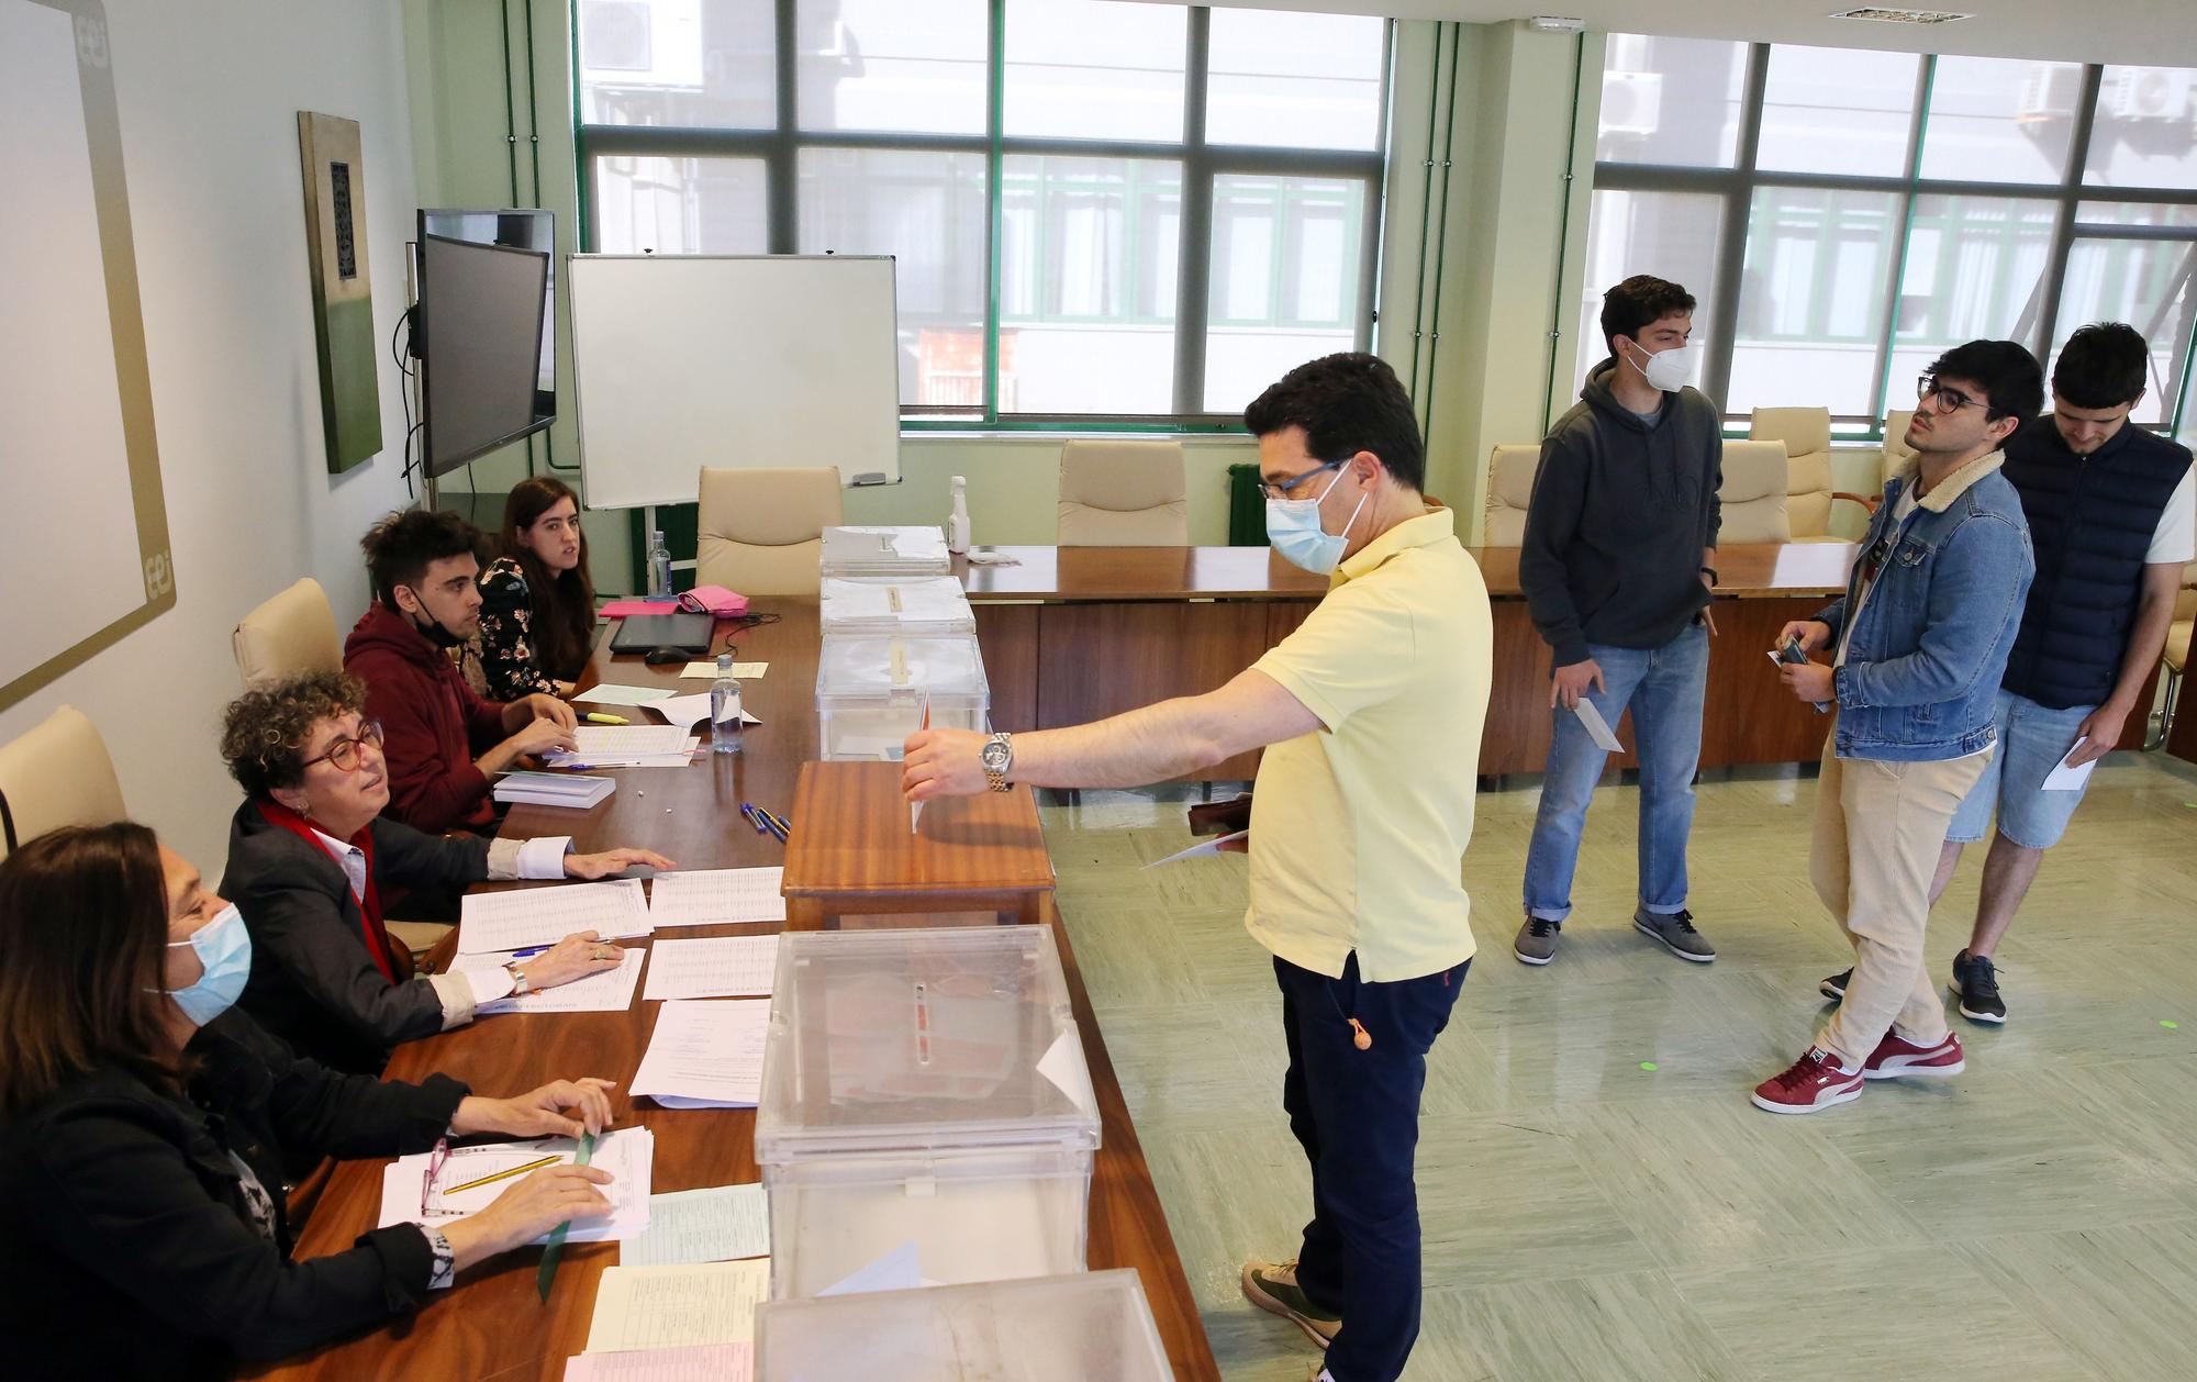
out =
[[[472,1022],[479,1004],[554,989],[624,951],[595,932],[505,967],[413,976],[382,916],[406,894],[439,899],[483,879],[600,879],[633,863],[670,868],[650,850],[573,855],[565,837],[422,835],[378,820],[389,804],[380,725],[343,672],[308,672],[228,705],[222,758],[246,800],[228,826],[222,892],[253,934],[253,978],[239,1006],[323,1066],[378,1074],[389,1048]],[[413,912],[417,914],[417,910]]]

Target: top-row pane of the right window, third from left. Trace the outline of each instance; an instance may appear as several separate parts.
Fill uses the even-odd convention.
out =
[[[2081,64],[1940,57],[1929,79],[1922,176],[2059,182],[2081,103]]]

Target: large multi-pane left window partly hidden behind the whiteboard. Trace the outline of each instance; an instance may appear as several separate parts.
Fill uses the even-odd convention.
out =
[[[916,426],[1233,420],[1371,341],[1389,24],[578,0],[602,253],[892,255]]]

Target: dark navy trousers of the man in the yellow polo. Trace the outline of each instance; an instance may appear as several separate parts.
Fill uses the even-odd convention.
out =
[[[1296,1283],[1342,1316],[1325,1358],[1336,1382],[1393,1382],[1419,1338],[1419,1094],[1470,965],[1367,984],[1358,956],[1334,980],[1274,956],[1290,1044],[1281,1105],[1312,1162]],[[1364,1050],[1351,1017],[1373,1039]]]

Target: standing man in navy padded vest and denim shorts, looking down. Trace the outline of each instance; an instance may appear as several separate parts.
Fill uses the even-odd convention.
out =
[[[2129,426],[2149,371],[2135,327],[2081,327],[2052,365],[2052,411],[2006,442],[2037,580],[1999,681],[1999,754],[1953,815],[1929,894],[1936,905],[1962,848],[1988,831],[1975,923],[1949,984],[1971,1022],[2006,1022],[1999,940],[2083,802],[2087,771],[2059,769],[2087,769],[2120,743],[2160,666],[2184,565],[2197,560],[2190,453]],[[1824,980],[1821,993],[1843,998],[1850,973]]]

